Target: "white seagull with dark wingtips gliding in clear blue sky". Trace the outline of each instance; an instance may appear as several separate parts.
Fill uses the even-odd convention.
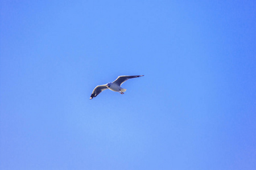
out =
[[[125,94],[124,92],[126,91],[126,89],[120,87],[121,84],[123,84],[128,79],[137,78],[140,76],[144,76],[144,75],[121,75],[121,76],[118,76],[118,78],[114,80],[114,82],[112,83],[96,86],[92,92],[92,95],[90,95],[90,99],[93,99],[93,97],[98,96],[98,94],[100,94],[102,91],[106,89],[117,91],[120,94]]]

